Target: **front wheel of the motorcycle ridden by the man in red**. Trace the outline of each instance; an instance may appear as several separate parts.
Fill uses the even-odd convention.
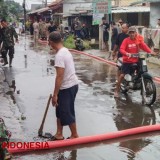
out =
[[[144,78],[144,86],[146,93],[142,87],[142,99],[146,105],[150,106],[156,100],[156,86],[155,83],[149,78]]]

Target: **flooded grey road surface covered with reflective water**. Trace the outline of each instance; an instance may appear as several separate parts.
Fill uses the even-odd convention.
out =
[[[26,47],[25,47],[26,46]],[[26,50],[25,50],[26,49]],[[46,46],[34,45],[24,37],[16,45],[13,67],[5,67],[9,83],[14,79],[14,93],[19,112],[24,120],[23,141],[39,141],[37,132],[42,121],[49,94],[53,92],[55,70],[50,65],[54,55],[48,54]],[[157,102],[150,109],[142,106],[139,92],[122,95],[114,99],[116,68],[91,58],[74,55],[76,72],[80,80],[76,98],[76,119],[80,136],[96,135],[113,131],[160,123],[159,94]],[[19,94],[18,94],[19,93]],[[55,133],[55,108],[50,105],[44,131]],[[26,119],[25,119],[26,118]],[[70,136],[64,128],[64,136]],[[145,137],[147,136],[147,137]],[[17,160],[158,160],[160,138],[155,134],[31,154],[16,155]]]

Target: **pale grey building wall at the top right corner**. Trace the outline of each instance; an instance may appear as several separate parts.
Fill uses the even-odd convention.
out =
[[[157,19],[160,18],[160,2],[151,3],[150,6],[150,26],[155,28],[157,25]]]

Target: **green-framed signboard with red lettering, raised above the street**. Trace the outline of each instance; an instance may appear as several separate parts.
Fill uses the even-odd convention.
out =
[[[93,21],[92,25],[98,25],[104,14],[111,14],[111,0],[93,0]]]

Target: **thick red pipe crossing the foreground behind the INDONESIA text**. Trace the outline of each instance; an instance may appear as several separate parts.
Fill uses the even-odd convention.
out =
[[[86,137],[79,137],[75,139],[66,139],[66,140],[60,140],[60,141],[48,141],[48,147],[44,148],[43,144],[46,142],[39,142],[43,143],[42,147],[36,147],[37,142],[33,142],[32,148],[8,148],[8,151],[10,153],[24,153],[28,151],[35,151],[35,150],[42,150],[42,149],[55,149],[55,148],[61,148],[61,147],[68,147],[68,146],[74,146],[74,145],[80,145],[80,144],[87,144],[87,143],[94,143],[94,142],[100,142],[105,140],[111,140],[115,138],[121,138],[125,136],[131,136],[135,134],[142,134],[147,132],[153,132],[153,131],[160,131],[160,125],[151,125],[151,126],[142,126],[132,129],[126,129],[122,131],[116,131],[101,135],[94,135],[94,136],[86,136]]]

